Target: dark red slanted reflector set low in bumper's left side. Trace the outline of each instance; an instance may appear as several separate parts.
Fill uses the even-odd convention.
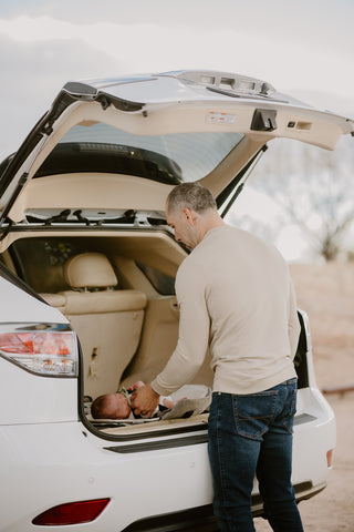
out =
[[[41,526],[58,526],[64,524],[90,523],[98,518],[111,499],[95,499],[92,501],[67,502],[53,507],[37,515],[32,524]]]

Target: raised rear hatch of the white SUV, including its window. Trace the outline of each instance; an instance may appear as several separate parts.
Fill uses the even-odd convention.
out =
[[[70,82],[1,165],[1,225],[38,209],[163,212],[180,181],[218,197],[272,139],[333,150],[351,132],[353,121],[237,74]]]

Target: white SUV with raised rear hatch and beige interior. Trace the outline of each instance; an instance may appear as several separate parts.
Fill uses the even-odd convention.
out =
[[[207,411],[94,420],[90,405],[150,381],[177,340],[187,250],[165,198],[200,181],[220,213],[267,143],[333,150],[353,122],[260,80],[168,72],[70,82],[0,165],[0,531],[216,530]],[[296,355],[296,498],[326,485],[335,419],[306,317]],[[208,360],[194,383],[212,381]],[[262,513],[257,482],[253,512]]]

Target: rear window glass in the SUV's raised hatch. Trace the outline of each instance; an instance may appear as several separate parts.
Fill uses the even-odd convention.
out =
[[[104,123],[76,125],[39,168],[49,173],[110,172],[178,184],[209,174],[241,141],[240,133],[142,136]]]

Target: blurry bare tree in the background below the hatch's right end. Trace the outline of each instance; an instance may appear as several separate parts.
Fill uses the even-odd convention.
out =
[[[272,144],[272,143],[271,143]],[[294,141],[270,144],[250,182],[278,203],[282,224],[296,224],[315,254],[334,260],[350,254],[354,228],[353,139],[327,152]]]

